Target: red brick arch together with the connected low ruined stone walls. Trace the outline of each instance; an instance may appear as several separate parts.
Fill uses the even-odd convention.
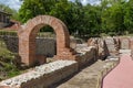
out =
[[[57,33],[57,55],[54,58],[58,61],[37,66],[28,73],[3,80],[0,82],[0,88],[48,88],[51,84],[76,73],[90,61],[103,59],[109,55],[115,56],[120,48],[130,48],[132,45],[131,41],[124,37],[94,37],[90,38],[88,44],[76,44],[76,48],[73,50],[70,47],[70,35],[65,24],[57,18],[39,15],[29,20],[25,26],[21,26],[18,32],[19,55],[22,57],[21,62],[29,66],[39,61],[35,58],[34,48],[37,32],[42,28],[40,24],[50,24]]]

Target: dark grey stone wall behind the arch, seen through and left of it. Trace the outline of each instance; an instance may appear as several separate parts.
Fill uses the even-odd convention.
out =
[[[13,53],[18,53],[19,40],[16,36],[2,36],[7,48]],[[54,38],[37,37],[37,55],[53,56],[57,54],[57,43]]]

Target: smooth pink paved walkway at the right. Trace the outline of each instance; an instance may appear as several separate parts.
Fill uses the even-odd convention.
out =
[[[105,76],[102,88],[133,88],[133,59],[130,53],[121,55],[120,64]]]

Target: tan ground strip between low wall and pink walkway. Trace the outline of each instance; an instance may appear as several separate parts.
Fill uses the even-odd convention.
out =
[[[72,78],[61,84],[52,85],[50,88],[98,88],[99,76],[101,72],[112,67],[116,62],[98,61],[85,67]]]

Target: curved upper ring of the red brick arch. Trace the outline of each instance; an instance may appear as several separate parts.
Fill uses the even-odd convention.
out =
[[[39,15],[28,21],[25,28],[28,29],[27,35],[29,35],[29,38],[32,36],[32,33],[38,33],[40,29],[37,28],[40,26],[40,24],[42,24],[42,26],[50,25],[53,28],[57,34],[57,41],[64,41],[62,45],[64,44],[65,47],[70,47],[70,35],[66,25],[61,20],[50,15]]]

